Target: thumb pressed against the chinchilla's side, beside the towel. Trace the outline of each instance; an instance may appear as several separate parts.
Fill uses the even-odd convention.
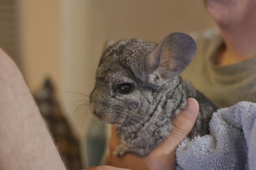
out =
[[[172,137],[173,142],[175,141],[177,145],[188,136],[194,127],[199,113],[199,105],[196,99],[188,98],[187,102],[188,107],[172,119],[173,129],[170,137]]]

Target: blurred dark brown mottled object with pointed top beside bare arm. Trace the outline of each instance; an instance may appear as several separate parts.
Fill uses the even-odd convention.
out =
[[[54,92],[51,80],[47,79],[43,87],[34,94],[34,98],[52,133],[53,140],[64,163],[68,169],[81,169],[79,142],[71,131],[68,121],[63,116]]]

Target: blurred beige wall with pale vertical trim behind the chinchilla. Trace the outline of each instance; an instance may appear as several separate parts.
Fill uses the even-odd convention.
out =
[[[79,135],[88,109],[74,112],[68,91],[89,94],[107,39],[160,41],[171,32],[214,26],[203,0],[23,0],[25,76],[32,91],[51,76]]]

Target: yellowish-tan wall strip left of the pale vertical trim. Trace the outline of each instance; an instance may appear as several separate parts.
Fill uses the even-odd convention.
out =
[[[60,86],[60,1],[20,0],[24,74],[32,91],[46,76]]]

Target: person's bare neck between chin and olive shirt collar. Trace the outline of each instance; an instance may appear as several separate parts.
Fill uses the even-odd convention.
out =
[[[217,65],[235,64],[256,56],[256,23],[255,26],[252,25],[253,23],[247,28],[244,26],[232,26],[232,28],[220,26],[225,46],[217,55]]]

